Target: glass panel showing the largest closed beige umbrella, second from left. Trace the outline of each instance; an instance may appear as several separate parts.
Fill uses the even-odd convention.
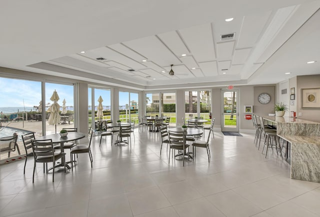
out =
[[[55,91],[56,94],[53,94]],[[46,135],[74,127],[73,85],[45,83]],[[59,117],[53,117],[57,106]],[[50,117],[51,116],[51,117]]]

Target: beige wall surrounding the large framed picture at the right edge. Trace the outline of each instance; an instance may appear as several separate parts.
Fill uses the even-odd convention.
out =
[[[301,89],[320,88],[320,75],[308,75],[296,77],[296,110],[297,117],[303,120],[320,122],[320,108],[301,108]],[[298,116],[301,112],[302,116]]]

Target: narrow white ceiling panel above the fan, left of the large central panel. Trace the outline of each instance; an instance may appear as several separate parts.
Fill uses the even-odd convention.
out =
[[[188,49],[185,47],[176,31],[163,33],[157,36],[177,57],[181,56],[181,54],[189,54]]]

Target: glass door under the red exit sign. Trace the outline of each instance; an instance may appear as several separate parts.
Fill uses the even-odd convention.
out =
[[[237,90],[221,91],[221,131],[238,132]]]

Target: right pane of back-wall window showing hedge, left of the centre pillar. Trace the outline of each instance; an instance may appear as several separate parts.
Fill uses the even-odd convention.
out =
[[[175,93],[160,93],[161,116],[170,117],[170,125],[175,124]]]

